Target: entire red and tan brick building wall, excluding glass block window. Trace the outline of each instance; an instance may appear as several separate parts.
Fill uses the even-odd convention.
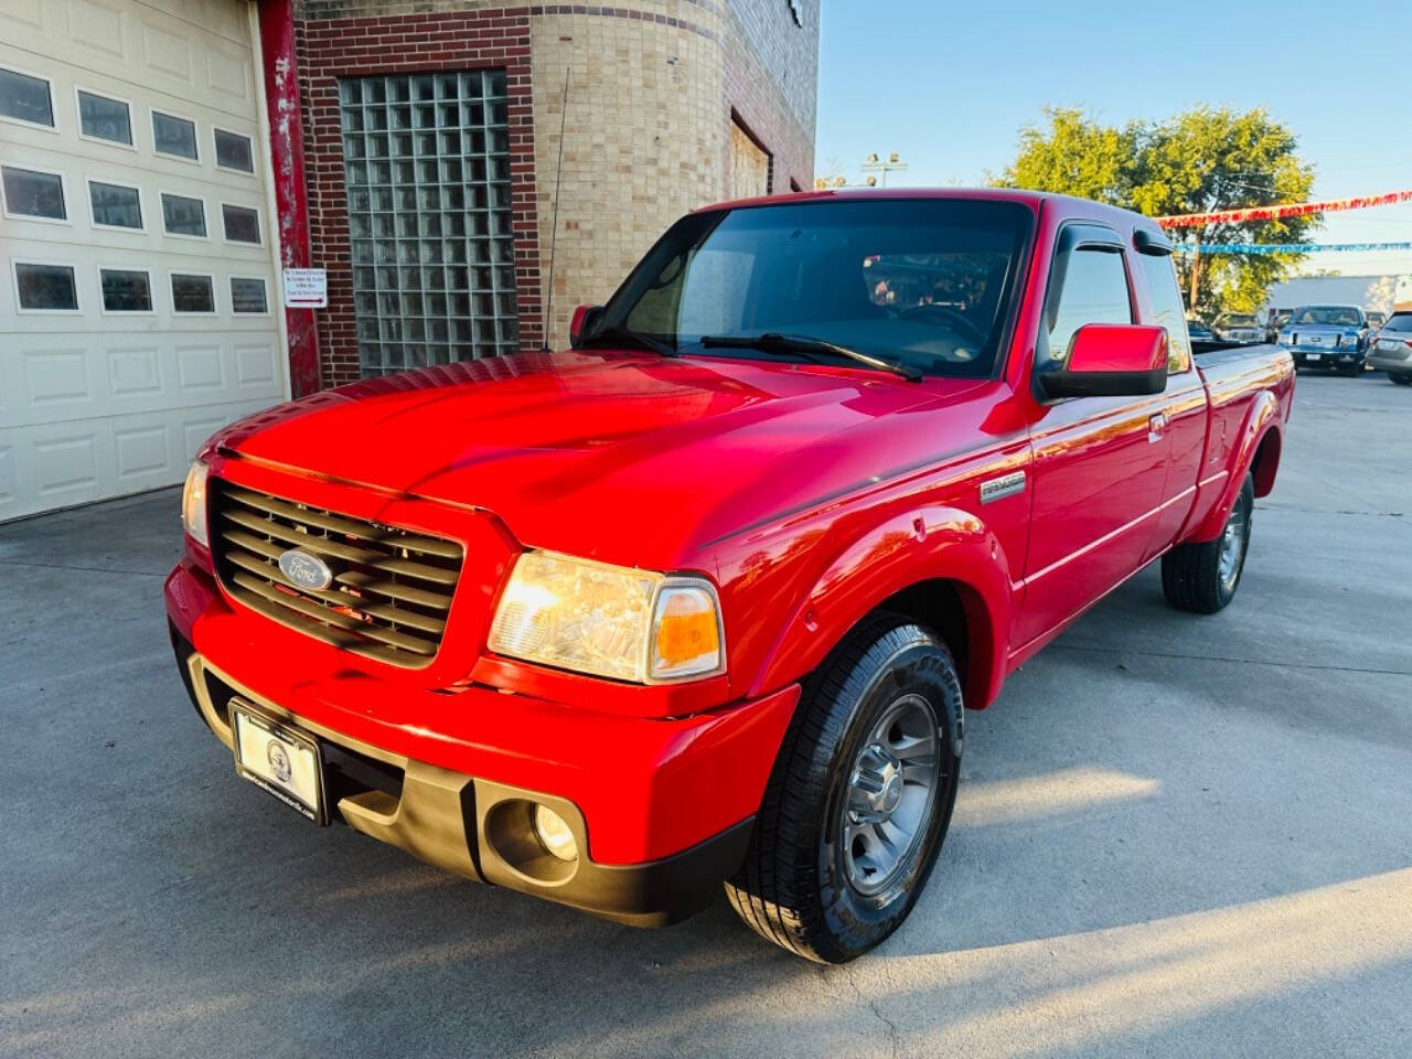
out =
[[[508,75],[515,289],[524,347],[544,340],[552,198],[570,69],[549,345],[604,301],[682,213],[729,195],[738,120],[772,191],[813,182],[819,0],[295,0],[312,264],[326,384],[359,376],[337,80],[503,68]]]

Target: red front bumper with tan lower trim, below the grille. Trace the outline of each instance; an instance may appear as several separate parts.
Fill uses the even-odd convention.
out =
[[[186,690],[227,747],[239,696],[319,740],[335,819],[460,875],[637,926],[705,908],[738,867],[799,693],[637,719],[378,682],[336,648],[239,613],[189,561],[168,578],[167,609]],[[578,860],[538,847],[534,803],[569,823]]]

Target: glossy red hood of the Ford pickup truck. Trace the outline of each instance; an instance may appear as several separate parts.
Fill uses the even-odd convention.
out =
[[[313,394],[233,424],[215,443],[481,507],[530,546],[674,565],[897,466],[897,442],[858,432],[986,385],[778,361],[524,353]]]

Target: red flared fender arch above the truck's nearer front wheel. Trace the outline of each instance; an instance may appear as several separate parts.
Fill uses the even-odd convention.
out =
[[[1012,589],[1000,541],[974,514],[922,507],[894,515],[849,544],[799,599],[751,695],[801,679],[890,596],[928,580],[952,582],[966,610],[967,706],[983,709],[1004,681]]]

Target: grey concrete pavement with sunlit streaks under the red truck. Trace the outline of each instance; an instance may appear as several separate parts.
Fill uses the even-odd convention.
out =
[[[928,891],[842,969],[311,829],[176,679],[175,491],[0,527],[0,1055],[1405,1056],[1409,428],[1302,377],[1237,602],[1149,569],[970,714]]]

